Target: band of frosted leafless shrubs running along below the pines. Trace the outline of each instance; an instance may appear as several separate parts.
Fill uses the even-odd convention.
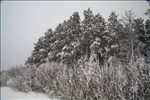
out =
[[[88,62],[70,66],[46,63],[38,68],[15,67],[1,72],[1,76],[3,86],[44,92],[65,100],[150,99],[150,65],[142,58],[134,64],[103,67]]]

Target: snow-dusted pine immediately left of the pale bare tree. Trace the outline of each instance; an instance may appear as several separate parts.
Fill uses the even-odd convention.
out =
[[[119,56],[120,41],[122,40],[123,26],[115,12],[111,12],[107,22],[108,51],[107,56]]]

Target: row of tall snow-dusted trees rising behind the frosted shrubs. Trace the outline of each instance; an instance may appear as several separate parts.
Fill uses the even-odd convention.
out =
[[[132,10],[122,19],[111,12],[105,20],[88,8],[81,21],[78,12],[60,23],[55,30],[48,29],[35,43],[27,65],[39,66],[45,62],[72,65],[79,61],[96,62],[103,66],[111,56],[123,64],[133,63],[143,56],[150,62],[150,9],[147,20],[136,18]]]

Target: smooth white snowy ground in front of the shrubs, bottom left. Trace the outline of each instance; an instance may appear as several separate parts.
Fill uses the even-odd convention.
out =
[[[0,100],[58,100],[50,99],[47,95],[35,92],[19,92],[9,87],[1,87]]]

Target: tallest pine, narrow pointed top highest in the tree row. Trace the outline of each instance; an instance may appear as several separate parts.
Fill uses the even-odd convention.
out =
[[[92,13],[92,10],[88,8],[88,10],[84,10],[84,20],[81,25],[82,29],[82,47],[83,51],[85,51],[85,60],[89,60],[90,58],[90,45],[93,40],[93,29],[92,29],[92,21],[94,18],[94,15]]]

